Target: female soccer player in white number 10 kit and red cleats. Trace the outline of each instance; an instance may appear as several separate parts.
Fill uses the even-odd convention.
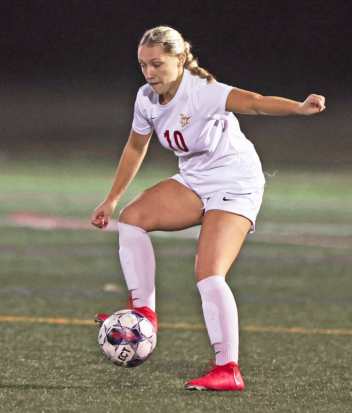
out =
[[[255,230],[265,180],[254,146],[232,112],[310,115],[325,109],[324,97],[312,94],[300,103],[216,82],[198,66],[181,34],[165,26],[144,34],[138,61],[147,84],[137,94],[112,189],[95,209],[92,224],[107,227],[155,130],[161,145],[178,156],[180,173],[145,190],[120,213],[120,261],[134,309],[157,329],[155,258],[147,233],[202,225],[195,279],[216,366],[186,387],[242,390],[238,313],[225,275],[246,234]],[[106,317],[100,314],[100,321]]]

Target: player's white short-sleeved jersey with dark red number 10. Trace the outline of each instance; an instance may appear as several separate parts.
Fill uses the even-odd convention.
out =
[[[178,156],[185,182],[201,198],[219,190],[248,193],[265,184],[253,144],[234,114],[225,111],[231,89],[208,84],[185,69],[169,103],[161,105],[148,84],[137,94],[133,130],[147,135],[155,129],[161,145]]]

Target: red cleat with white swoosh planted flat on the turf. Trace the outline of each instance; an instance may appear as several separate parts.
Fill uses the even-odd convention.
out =
[[[227,364],[214,366],[201,375],[200,379],[191,380],[186,383],[190,390],[243,390],[244,383],[239,371],[239,366],[234,361]]]

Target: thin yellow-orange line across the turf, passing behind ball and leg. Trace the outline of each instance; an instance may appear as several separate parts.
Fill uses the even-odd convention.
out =
[[[94,325],[94,320],[80,320],[79,318],[43,318],[43,317],[19,317],[19,316],[0,316],[0,321],[25,322],[25,323],[47,323],[47,324],[80,324]],[[186,328],[204,329],[205,324],[187,323],[159,323],[159,327],[164,328]],[[301,327],[271,327],[271,326],[244,326],[242,331],[252,331],[256,333],[300,333],[300,334],[332,334],[332,335],[352,335],[352,329],[342,328],[301,328]]]

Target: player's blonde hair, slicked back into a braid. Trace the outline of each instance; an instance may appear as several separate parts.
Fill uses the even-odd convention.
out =
[[[185,42],[181,34],[172,27],[158,26],[148,30],[144,33],[139,43],[139,47],[143,45],[148,47],[160,45],[164,52],[171,56],[178,56],[180,53],[185,53],[186,61],[184,63],[184,68],[188,69],[193,76],[207,79],[208,83],[214,82],[214,76],[208,73],[206,69],[200,68],[197,59],[193,58],[193,55],[190,52],[191,45],[188,42]]]

